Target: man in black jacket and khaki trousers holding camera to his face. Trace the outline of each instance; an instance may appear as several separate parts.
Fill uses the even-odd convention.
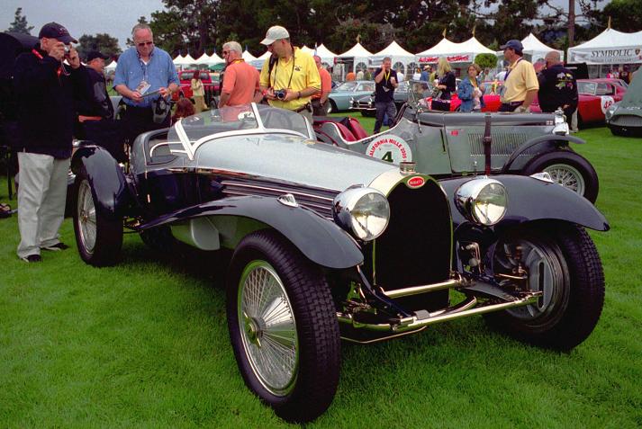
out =
[[[16,58],[14,67],[20,139],[17,254],[29,263],[41,261],[41,249],[68,248],[59,240],[59,228],[65,213],[74,98],[84,91],[86,73],[70,44],[77,40],[65,27],[47,23],[38,38],[40,43]]]

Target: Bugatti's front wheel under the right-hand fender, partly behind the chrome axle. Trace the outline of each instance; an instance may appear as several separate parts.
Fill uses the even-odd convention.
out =
[[[604,304],[604,273],[591,237],[572,224],[518,228],[492,246],[494,274],[511,272],[514,259],[505,251],[514,252],[517,245],[523,252],[522,267],[538,275],[530,284],[542,284],[545,297],[537,305],[491,313],[486,319],[529,343],[573,349],[591,335]]]

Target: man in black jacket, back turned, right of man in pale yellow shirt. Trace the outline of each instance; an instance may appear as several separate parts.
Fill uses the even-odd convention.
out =
[[[542,112],[555,112],[561,107],[570,121],[577,109],[577,83],[573,72],[562,65],[559,52],[551,50],[547,53],[546,68],[538,73],[539,107]]]

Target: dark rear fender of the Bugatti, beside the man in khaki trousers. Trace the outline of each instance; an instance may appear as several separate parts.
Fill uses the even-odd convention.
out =
[[[107,219],[122,219],[132,197],[121,166],[103,147],[83,146],[71,159],[71,171],[78,175],[83,167],[94,192],[95,209]]]

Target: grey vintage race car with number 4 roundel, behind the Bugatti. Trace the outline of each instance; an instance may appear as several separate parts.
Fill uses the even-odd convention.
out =
[[[475,174],[546,172],[556,183],[594,202],[599,180],[591,163],[570,143],[564,113],[437,112],[421,106],[422,94],[409,93],[396,125],[365,139],[346,139],[337,125],[317,121],[325,141],[399,164],[412,161],[420,173],[437,178]],[[486,153],[488,151],[488,153]],[[490,162],[486,163],[486,156]],[[486,170],[486,165],[490,168]]]

